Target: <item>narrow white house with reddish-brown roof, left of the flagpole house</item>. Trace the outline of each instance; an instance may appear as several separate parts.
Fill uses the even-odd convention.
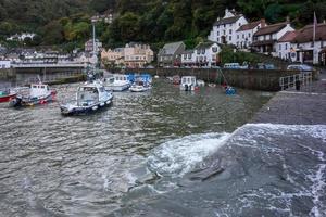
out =
[[[297,31],[287,31],[277,41],[276,53],[279,59],[296,62],[297,55],[291,41],[297,36]]]

